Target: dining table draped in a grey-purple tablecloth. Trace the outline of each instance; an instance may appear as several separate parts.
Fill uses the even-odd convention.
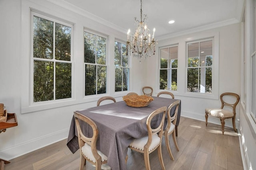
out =
[[[154,100],[146,107],[130,107],[124,101],[120,101],[77,111],[96,123],[99,131],[96,148],[108,157],[108,165],[112,170],[127,170],[125,158],[128,146],[133,139],[148,135],[146,120],[150,113],[160,107],[168,108],[176,101],[170,98],[153,98]],[[178,109],[178,123],[180,111],[181,104]],[[174,113],[174,108],[171,113]],[[156,120],[155,123],[159,122]],[[164,126],[166,124],[167,116]],[[86,123],[80,123],[80,126],[85,135],[92,135],[92,129]],[[72,153],[79,149],[74,117],[70,125],[67,146]]]

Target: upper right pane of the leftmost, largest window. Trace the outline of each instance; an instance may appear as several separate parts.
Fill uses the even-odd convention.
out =
[[[55,59],[70,61],[71,27],[55,23]]]

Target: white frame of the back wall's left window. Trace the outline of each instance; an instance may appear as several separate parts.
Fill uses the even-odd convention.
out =
[[[168,48],[168,52],[169,52],[169,50],[170,50],[170,48],[171,47],[177,47],[178,49],[177,49],[177,53],[178,53],[178,57],[177,57],[177,60],[178,60],[178,66],[177,66],[177,68],[171,68],[170,67],[170,61],[169,61],[169,53],[168,53],[168,62],[167,62],[167,68],[161,68],[161,49],[166,49],[166,48]],[[167,70],[167,88],[168,88],[168,86],[170,85],[170,87],[172,87],[172,82],[170,82],[170,84],[168,84],[168,80],[169,80],[169,70],[177,70],[177,90],[172,90],[171,88],[169,89],[167,89],[168,91],[170,91],[170,92],[178,92],[178,90],[179,90],[179,86],[178,86],[178,70],[179,70],[179,44],[177,43],[177,44],[173,44],[173,45],[168,45],[168,46],[164,46],[164,47],[159,47],[159,59],[158,59],[158,63],[159,63],[159,65],[158,65],[158,67],[159,67],[159,69],[158,69],[158,89],[160,90],[160,91],[163,91],[164,89],[160,89],[160,70]]]

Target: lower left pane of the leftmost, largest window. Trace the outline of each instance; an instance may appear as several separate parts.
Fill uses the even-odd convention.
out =
[[[34,102],[54,100],[54,63],[34,61]]]

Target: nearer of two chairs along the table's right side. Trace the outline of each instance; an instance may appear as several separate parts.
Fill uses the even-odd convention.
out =
[[[134,139],[132,143],[129,145],[129,148],[135,150],[140,153],[144,153],[144,161],[146,170],[150,170],[150,162],[149,162],[149,154],[157,149],[158,158],[162,167],[162,170],[165,170],[164,162],[162,158],[162,135],[164,128],[164,118],[166,115],[167,107],[161,107],[155,111],[153,111],[146,121],[148,136],[142,137],[140,139]],[[160,116],[162,114],[162,116]],[[155,117],[161,117],[161,122],[156,128],[151,127],[151,120]]]

